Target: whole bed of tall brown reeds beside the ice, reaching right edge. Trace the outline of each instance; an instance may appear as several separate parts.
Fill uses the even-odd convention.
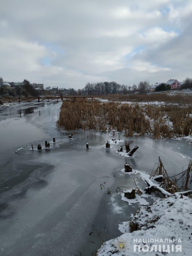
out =
[[[63,102],[57,127],[65,130],[117,129],[126,136],[152,133],[153,138],[173,138],[192,133],[190,106],[119,104],[117,102]]]

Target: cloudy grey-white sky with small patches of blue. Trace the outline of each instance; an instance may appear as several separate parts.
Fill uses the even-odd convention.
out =
[[[3,0],[0,76],[82,89],[192,77],[192,0]]]

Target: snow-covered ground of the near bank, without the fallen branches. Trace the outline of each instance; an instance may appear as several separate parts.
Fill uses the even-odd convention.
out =
[[[105,242],[97,256],[191,255],[192,199],[176,196],[141,206],[131,221],[132,233]],[[128,223],[124,230],[128,231]],[[133,231],[135,229],[135,231]],[[123,229],[121,229],[123,230]],[[122,248],[123,246],[123,248]]]

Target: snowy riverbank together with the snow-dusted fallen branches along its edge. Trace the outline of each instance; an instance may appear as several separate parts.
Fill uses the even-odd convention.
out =
[[[160,168],[162,168],[161,165],[162,163],[159,165]],[[191,176],[191,162],[189,166],[189,176]],[[133,179],[136,174],[140,174],[148,187],[143,191],[137,186],[135,199],[127,199],[125,195],[127,192],[132,192],[132,189],[121,193],[121,199],[128,202],[129,205],[138,201],[140,203],[139,210],[132,216],[131,221],[119,225],[119,230],[123,235],[104,242],[98,250],[97,256],[139,256],[145,255],[146,252],[154,256],[166,255],[166,253],[175,255],[176,252],[177,255],[190,254],[192,246],[192,198],[190,195],[192,190],[186,188],[188,191],[185,189],[181,192],[177,183],[171,183],[168,178],[169,191],[173,192],[167,192],[167,189],[163,189],[163,184],[165,186],[166,182],[163,177],[165,177],[166,171],[163,173],[164,176],[161,175],[162,181],[159,183],[156,180],[157,176],[151,178],[149,174],[139,171],[125,173],[126,175],[131,174]],[[178,176],[176,177],[178,179]],[[172,180],[175,180],[174,177]],[[175,185],[172,185],[173,183]],[[135,187],[133,188],[135,189]],[[149,188],[153,188],[151,190],[153,193],[149,192]],[[154,199],[155,191],[160,192],[164,198],[156,198],[154,203],[149,204],[145,199],[146,197]]]

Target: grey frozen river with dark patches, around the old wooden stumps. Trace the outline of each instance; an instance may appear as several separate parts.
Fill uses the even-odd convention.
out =
[[[125,159],[118,145],[105,149],[109,134],[58,131],[61,103],[0,109],[0,255],[94,255],[102,241],[120,236],[138,204],[128,205],[117,186],[135,187],[120,172]],[[117,133],[117,139],[125,139]],[[45,150],[45,140],[51,149]],[[42,145],[42,151],[31,151]],[[89,143],[89,150],[86,150]],[[134,138],[139,146],[128,162],[150,173],[160,156],[169,174],[182,171],[192,158],[186,140]],[[143,182],[134,177],[140,187]],[[100,187],[103,184],[105,188]],[[111,195],[106,194],[109,187]],[[91,235],[90,232],[93,232]]]

